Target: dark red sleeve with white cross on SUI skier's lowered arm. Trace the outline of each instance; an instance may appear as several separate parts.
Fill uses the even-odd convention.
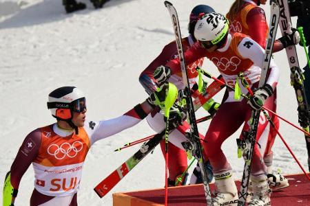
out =
[[[21,177],[37,157],[40,145],[41,131],[39,129],[32,131],[32,133],[25,137],[23,144],[21,144],[10,169],[11,184],[15,190],[18,190]]]

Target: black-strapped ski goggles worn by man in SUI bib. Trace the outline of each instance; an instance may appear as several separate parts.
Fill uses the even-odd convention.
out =
[[[81,113],[86,109],[86,99],[80,98],[70,103],[48,102],[48,108],[69,108],[76,113]]]

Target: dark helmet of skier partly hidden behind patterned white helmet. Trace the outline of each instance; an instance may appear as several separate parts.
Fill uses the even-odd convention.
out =
[[[194,30],[195,30],[195,25],[199,19],[200,16],[203,16],[203,14],[215,12],[213,8],[211,8],[209,5],[196,5],[191,14],[189,15],[189,23],[188,23],[188,32],[191,34],[192,38],[194,37]]]

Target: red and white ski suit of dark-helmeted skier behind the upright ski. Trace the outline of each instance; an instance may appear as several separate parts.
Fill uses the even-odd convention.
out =
[[[192,40],[191,36],[188,36],[187,38],[182,39],[183,48],[185,51],[189,49],[194,44],[194,41]],[[153,91],[156,91],[156,85],[154,82],[154,71],[157,67],[161,65],[165,65],[169,60],[175,59],[178,57],[178,51],[176,50],[176,42],[172,41],[171,43],[165,45],[163,47],[163,51],[161,54],[159,54],[148,66],[143,70],[139,77],[139,81],[147,91],[147,93],[152,93]],[[203,58],[199,58],[198,60],[195,60],[191,64],[187,65],[187,71],[189,75],[189,82],[190,84],[196,83],[196,77],[198,76],[198,73],[196,71],[197,66],[203,65]],[[176,85],[178,89],[181,89],[183,87],[183,79],[181,76],[181,73],[174,73],[171,78],[169,78],[169,82],[172,82]],[[163,120],[163,115],[161,113],[152,113],[152,115],[148,115],[147,122],[151,128],[156,131],[156,133],[161,132],[163,129],[165,129],[165,122]],[[183,126],[184,128],[184,126]],[[187,128],[189,129],[189,126],[187,124]],[[187,154],[183,148],[183,146],[180,144],[182,141],[186,141],[186,137],[184,135],[185,130],[181,130],[181,128],[177,128],[169,135],[169,141],[171,141],[173,144],[169,142],[169,159],[168,159],[168,168],[169,168],[169,179],[176,179],[176,176],[179,174],[182,174],[185,169],[187,168]],[[203,135],[201,135],[203,137]],[[180,139],[182,139],[180,141]],[[176,146],[174,146],[176,145]],[[165,154],[165,141],[161,141],[161,150],[163,154]],[[165,156],[165,155],[164,155]]]

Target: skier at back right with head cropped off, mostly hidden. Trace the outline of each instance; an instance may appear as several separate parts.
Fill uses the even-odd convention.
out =
[[[239,32],[247,34],[256,41],[262,48],[266,47],[266,38],[268,34],[268,25],[265,16],[265,12],[259,7],[260,4],[265,5],[267,0],[236,0],[231,5],[229,12],[227,13],[227,19],[229,20],[229,32],[234,34]],[[296,45],[299,42],[299,34],[296,29],[292,28],[293,33],[291,35],[282,36],[275,41],[273,45],[273,52],[279,52],[282,49]],[[276,102],[276,90],[273,91],[274,102]],[[273,111],[276,112],[276,104],[273,107]],[[284,187],[288,187],[289,183],[285,176],[280,174],[280,171],[272,170],[273,152],[271,150],[273,143],[276,139],[276,129],[279,128],[279,119],[276,115],[271,115],[271,120],[275,124],[276,128],[269,125],[269,137],[267,141],[267,149],[264,155],[265,165],[267,166],[267,176],[269,177],[270,186],[279,190]]]

